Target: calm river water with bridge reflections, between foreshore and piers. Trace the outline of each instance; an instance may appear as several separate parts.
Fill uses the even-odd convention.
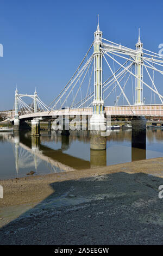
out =
[[[89,131],[41,131],[32,138],[29,131],[0,133],[0,179],[30,174],[70,172],[98,166],[163,156],[163,130],[147,129],[146,147],[131,147],[131,130],[111,130],[106,150],[90,149]]]

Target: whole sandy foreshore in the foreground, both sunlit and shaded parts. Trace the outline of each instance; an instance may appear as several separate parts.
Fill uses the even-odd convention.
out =
[[[163,158],[0,180],[0,244],[162,244]]]

